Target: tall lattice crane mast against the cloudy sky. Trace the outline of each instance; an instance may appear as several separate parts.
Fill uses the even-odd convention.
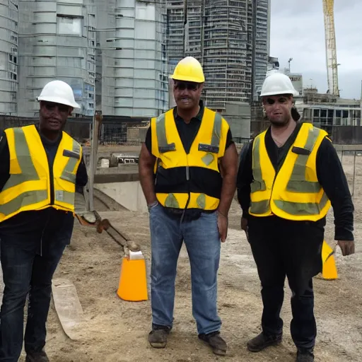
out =
[[[334,0],[322,0],[325,14],[325,50],[327,56],[328,92],[339,97]]]

